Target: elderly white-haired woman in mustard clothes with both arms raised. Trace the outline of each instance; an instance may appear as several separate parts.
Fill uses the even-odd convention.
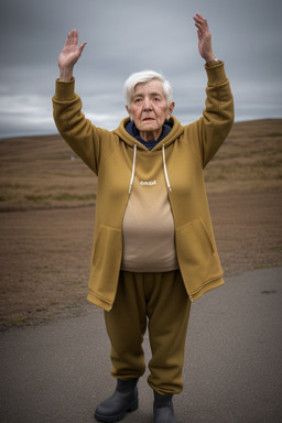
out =
[[[172,398],[183,389],[191,303],[224,283],[203,169],[230,131],[234,102],[207,21],[199,14],[194,20],[207,99],[203,116],[184,127],[172,116],[169,82],[151,70],[127,79],[129,117],[119,128],[95,127],[74,91],[73,67],[85,47],[77,31],[68,34],[58,58],[56,126],[98,175],[88,300],[105,310],[117,379],[112,395],[95,411],[101,422],[120,421],[138,408],[147,327],[154,422],[176,422]]]

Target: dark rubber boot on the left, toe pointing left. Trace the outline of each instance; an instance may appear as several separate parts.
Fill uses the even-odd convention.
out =
[[[101,402],[96,411],[95,419],[99,422],[119,422],[124,414],[138,409],[137,379],[117,380],[117,388],[108,400]]]

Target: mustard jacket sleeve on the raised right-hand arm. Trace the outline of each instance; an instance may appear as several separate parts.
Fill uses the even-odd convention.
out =
[[[198,140],[203,167],[218,151],[234,123],[234,97],[224,63],[205,65],[205,68],[208,78],[206,107],[193,128],[197,133],[192,134]]]

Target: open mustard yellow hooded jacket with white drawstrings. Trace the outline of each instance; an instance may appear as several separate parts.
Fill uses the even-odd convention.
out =
[[[57,129],[98,176],[88,300],[105,311],[110,311],[115,302],[122,259],[122,221],[140,155],[147,156],[148,166],[163,161],[176,254],[191,300],[224,283],[203,169],[231,129],[234,100],[224,63],[205,68],[208,84],[203,116],[187,126],[173,117],[171,132],[151,151],[127,132],[128,118],[113,131],[95,127],[82,112],[74,79],[56,82],[53,105]]]

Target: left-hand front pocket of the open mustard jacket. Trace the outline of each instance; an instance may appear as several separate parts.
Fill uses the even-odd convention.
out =
[[[117,292],[121,254],[121,230],[101,225],[94,243],[89,290],[110,304]]]

